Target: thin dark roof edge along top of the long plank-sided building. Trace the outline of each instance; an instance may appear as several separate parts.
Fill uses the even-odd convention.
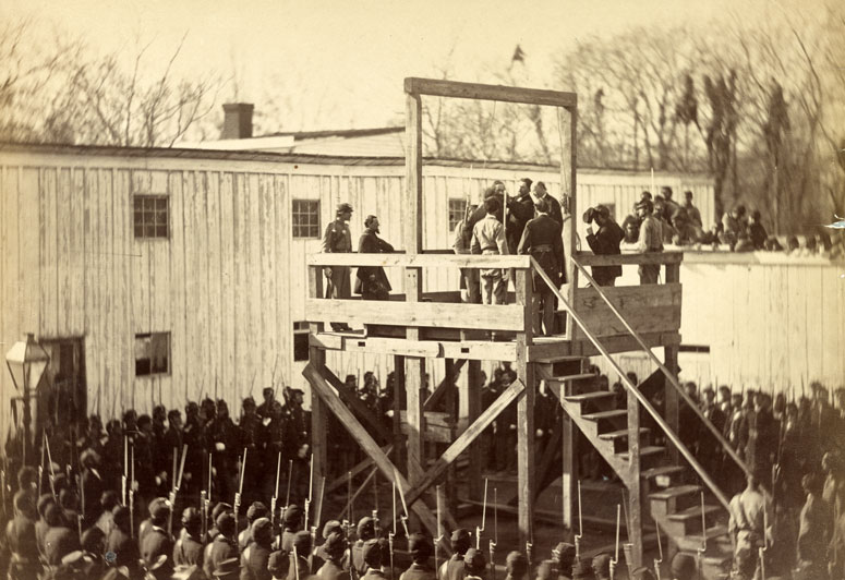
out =
[[[112,156],[112,157],[132,157],[132,158],[162,158],[162,159],[207,159],[207,160],[232,160],[232,161],[267,161],[267,162],[287,162],[303,165],[340,165],[340,166],[405,166],[405,157],[382,157],[382,156],[343,156],[343,155],[317,155],[301,153],[278,153],[262,150],[218,150],[218,149],[195,149],[178,147],[122,147],[117,145],[72,145],[57,143],[15,143],[0,142],[0,153],[31,153],[46,155],[90,155],[90,156]],[[503,169],[509,171],[533,170],[533,171],[558,171],[557,165],[541,165],[521,161],[483,161],[473,159],[454,159],[423,157],[424,166],[438,167],[470,167],[475,166],[486,169]],[[593,173],[615,173],[615,174],[637,174],[645,173],[644,170],[633,170],[627,168],[596,168],[579,167],[579,171]],[[683,174],[688,178],[709,179],[704,173],[678,173],[663,171],[661,174]]]

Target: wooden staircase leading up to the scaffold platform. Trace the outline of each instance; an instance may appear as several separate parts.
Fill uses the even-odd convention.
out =
[[[705,493],[702,535],[701,492],[704,488],[688,482],[693,472],[673,463],[666,447],[655,445],[655,434],[648,427],[639,430],[640,470],[631,473],[628,450],[627,406],[617,409],[614,392],[596,390],[594,375],[584,372],[589,359],[548,360],[540,375],[560,400],[565,412],[587,437],[621,482],[630,490],[629,478],[639,478],[647,515],[666,535],[674,551],[697,555],[707,545],[702,557],[702,577],[726,577],[733,559],[727,536],[728,515],[721,504]],[[660,372],[660,371],[657,371]],[[664,536],[665,537],[665,536]]]

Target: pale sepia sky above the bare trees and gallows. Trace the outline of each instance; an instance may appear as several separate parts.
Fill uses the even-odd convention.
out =
[[[401,119],[402,78],[494,82],[517,45],[531,86],[547,86],[554,55],[592,35],[714,19],[756,21],[765,0],[3,0],[0,16],[29,17],[44,34],[67,31],[101,51],[149,45],[155,74],[184,44],[177,72],[233,80],[221,100],[287,101],[294,129],[378,126]],[[237,87],[237,93],[236,93]],[[286,126],[283,129],[290,129]]]

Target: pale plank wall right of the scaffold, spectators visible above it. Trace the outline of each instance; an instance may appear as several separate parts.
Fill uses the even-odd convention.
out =
[[[623,283],[636,283],[636,268],[624,269]],[[710,353],[681,352],[680,378],[787,396],[800,396],[802,384],[809,396],[812,380],[829,389],[845,386],[843,274],[845,264],[824,258],[687,252],[681,345],[709,347]],[[618,360],[640,378],[653,370],[644,354]]]

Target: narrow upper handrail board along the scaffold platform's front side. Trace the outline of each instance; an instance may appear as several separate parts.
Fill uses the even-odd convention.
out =
[[[655,254],[647,254],[655,255]],[[414,268],[515,268],[528,269],[528,256],[478,254],[310,254],[309,266],[382,266]]]

